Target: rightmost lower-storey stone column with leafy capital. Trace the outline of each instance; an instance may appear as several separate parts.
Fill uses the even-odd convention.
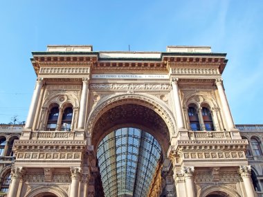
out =
[[[251,180],[251,166],[250,165],[240,166],[239,173],[244,181],[246,196],[255,197],[255,191]]]

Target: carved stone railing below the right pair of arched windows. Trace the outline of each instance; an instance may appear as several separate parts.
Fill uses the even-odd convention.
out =
[[[229,131],[189,131],[190,139],[230,139]]]

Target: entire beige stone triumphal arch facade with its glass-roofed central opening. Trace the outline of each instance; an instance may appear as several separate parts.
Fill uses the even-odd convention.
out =
[[[8,196],[255,196],[221,78],[226,53],[48,46],[31,62]]]

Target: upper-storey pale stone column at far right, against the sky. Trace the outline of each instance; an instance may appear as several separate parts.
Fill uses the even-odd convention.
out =
[[[223,80],[217,79],[215,84],[217,85],[219,97],[220,97],[221,104],[222,104],[222,111],[223,111],[224,116],[226,118],[226,124],[228,124],[227,125],[228,129],[235,129],[235,124],[234,124],[232,115],[230,113],[228,101],[226,100],[226,94],[225,94],[224,87],[223,87]]]

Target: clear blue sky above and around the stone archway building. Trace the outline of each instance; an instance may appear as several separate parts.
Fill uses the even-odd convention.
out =
[[[48,44],[228,53],[224,86],[235,124],[263,124],[263,1],[1,1],[0,123],[26,120],[36,75],[31,51]]]

